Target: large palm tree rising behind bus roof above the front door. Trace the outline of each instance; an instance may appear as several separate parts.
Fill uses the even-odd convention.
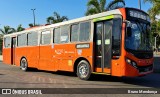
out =
[[[87,12],[86,15],[92,15],[101,13],[107,10],[113,10],[116,8],[125,7],[124,0],[114,0],[111,1],[106,7],[106,0],[89,0],[87,3]]]

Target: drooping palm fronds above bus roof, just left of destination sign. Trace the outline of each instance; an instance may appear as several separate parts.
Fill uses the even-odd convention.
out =
[[[125,1],[124,0],[114,0],[111,1],[108,6],[107,6],[107,10],[113,10],[113,9],[117,9],[117,8],[123,8],[125,7]]]

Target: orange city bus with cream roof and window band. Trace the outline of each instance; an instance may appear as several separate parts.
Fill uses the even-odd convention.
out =
[[[135,8],[120,8],[4,35],[3,62],[26,71],[143,76],[153,72],[150,19]]]

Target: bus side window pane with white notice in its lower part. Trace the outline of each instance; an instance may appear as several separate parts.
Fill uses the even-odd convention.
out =
[[[69,41],[69,26],[61,27],[60,42],[67,43]]]

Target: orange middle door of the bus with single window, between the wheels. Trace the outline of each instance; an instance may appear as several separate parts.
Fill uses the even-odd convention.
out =
[[[53,70],[54,66],[51,63],[51,57],[51,31],[46,29],[41,32],[38,69]]]

